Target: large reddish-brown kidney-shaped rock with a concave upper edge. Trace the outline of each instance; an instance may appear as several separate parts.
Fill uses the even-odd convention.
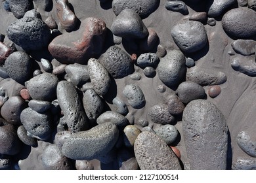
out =
[[[61,63],[85,63],[100,54],[106,35],[106,24],[98,18],[86,18],[80,29],[53,39],[49,52]]]

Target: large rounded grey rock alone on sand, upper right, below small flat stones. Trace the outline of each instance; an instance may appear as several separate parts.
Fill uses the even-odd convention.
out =
[[[173,26],[171,29],[173,41],[186,53],[193,53],[207,44],[205,28],[198,21],[184,21]]]

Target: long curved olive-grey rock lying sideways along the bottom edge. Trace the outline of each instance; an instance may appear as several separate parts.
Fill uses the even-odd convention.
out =
[[[62,153],[70,159],[95,159],[110,152],[118,137],[119,132],[115,124],[96,125],[88,131],[70,135],[70,138],[66,139],[62,146]]]

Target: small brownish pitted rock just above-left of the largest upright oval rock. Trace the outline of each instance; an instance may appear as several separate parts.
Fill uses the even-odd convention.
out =
[[[182,101],[179,99],[179,97],[177,97],[177,95],[172,96],[168,103],[168,112],[171,115],[179,115],[182,114],[183,110],[184,110],[184,104],[182,103]]]

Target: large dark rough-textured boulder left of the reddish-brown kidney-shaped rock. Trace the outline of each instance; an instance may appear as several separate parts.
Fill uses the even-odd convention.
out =
[[[41,50],[48,46],[51,32],[43,20],[24,17],[9,25],[7,37],[24,50]]]

